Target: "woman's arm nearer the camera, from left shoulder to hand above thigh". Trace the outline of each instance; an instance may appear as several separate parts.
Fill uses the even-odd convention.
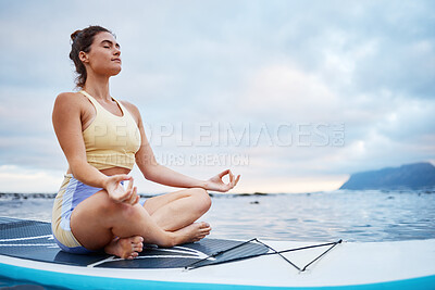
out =
[[[129,186],[127,190],[124,190],[120,181],[130,180],[132,177],[127,175],[108,177],[88,164],[82,135],[82,113],[84,110],[83,99],[73,92],[59,94],[54,102],[53,127],[71,172],[77,180],[91,187],[105,189],[112,199],[120,202],[129,201],[128,199],[132,198],[136,189],[132,189]]]

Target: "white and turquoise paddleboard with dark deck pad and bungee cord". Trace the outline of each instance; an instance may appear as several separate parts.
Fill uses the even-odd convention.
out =
[[[0,217],[0,276],[71,289],[435,289],[435,239],[206,238],[170,249],[147,245],[137,259],[121,260],[65,253],[49,223]]]

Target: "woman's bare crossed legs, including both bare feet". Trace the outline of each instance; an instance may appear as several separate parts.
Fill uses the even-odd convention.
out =
[[[133,259],[142,242],[173,247],[204,238],[210,226],[194,222],[210,205],[207,191],[199,188],[151,198],[144,207],[115,203],[101,190],[74,209],[71,230],[89,250],[104,248],[110,254]]]

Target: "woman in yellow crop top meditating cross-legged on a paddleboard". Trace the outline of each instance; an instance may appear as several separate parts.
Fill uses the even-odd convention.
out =
[[[134,259],[142,243],[173,247],[199,241],[210,234],[195,223],[211,205],[207,190],[225,192],[240,176],[229,169],[208,180],[176,173],[156,162],[138,109],[110,96],[109,78],[121,72],[114,35],[89,26],[71,36],[79,92],[60,93],[52,122],[69,169],[53,205],[52,230],[58,244],[71,253],[103,249]],[[128,175],[137,164],[144,177],[186,188],[139,204]],[[229,176],[224,184],[222,177]],[[126,189],[123,182],[128,181]]]

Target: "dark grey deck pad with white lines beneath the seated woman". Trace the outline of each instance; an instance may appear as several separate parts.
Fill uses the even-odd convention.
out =
[[[269,249],[262,244],[249,242],[227,251],[216,257],[204,260],[211,254],[232,249],[243,241],[224,239],[202,239],[169,249],[154,245],[144,247],[144,251],[134,260],[122,260],[103,252],[92,254],[70,254],[62,251],[51,234],[51,224],[38,220],[0,217],[0,254],[33,261],[91,266],[107,268],[179,268],[197,265],[213,265],[226,261],[241,260],[264,254]],[[203,261],[202,261],[203,260]]]

